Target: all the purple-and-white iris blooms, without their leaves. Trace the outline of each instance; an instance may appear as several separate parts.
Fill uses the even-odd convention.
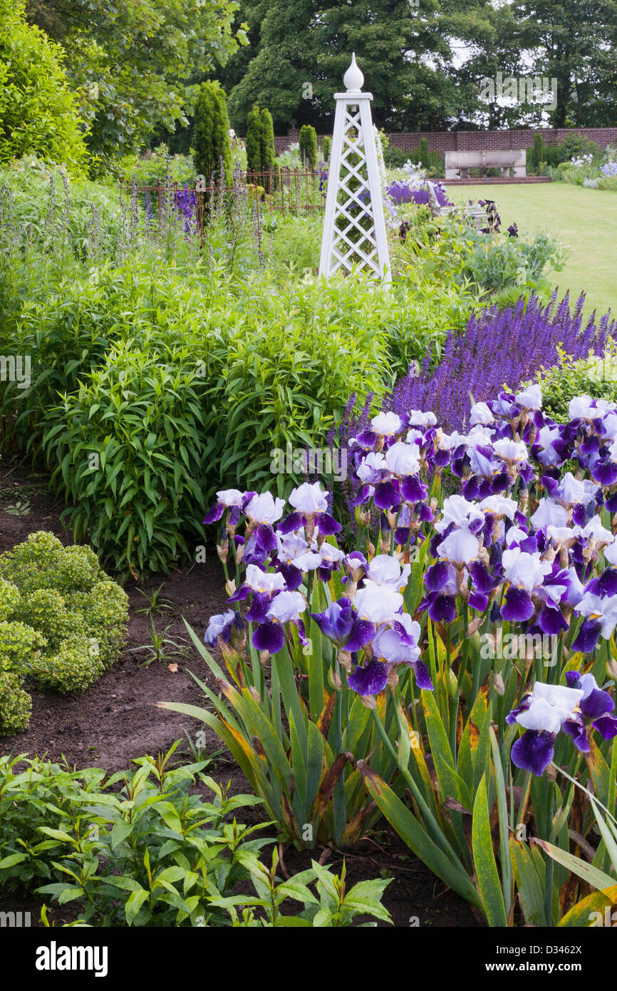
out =
[[[242,616],[266,662],[284,647],[307,648],[311,621],[347,687],[368,706],[394,691],[405,671],[420,689],[433,689],[427,617],[453,628],[463,620],[465,629],[481,626],[489,635],[507,623],[524,636],[553,638],[560,658],[593,652],[617,625],[610,518],[617,510],[617,405],[578,396],[569,412],[566,424],[555,423],[543,412],[541,387],[532,385],[474,403],[464,431],[445,429],[421,408],[366,417],[349,442],[356,550],[339,546],[342,526],[319,483],[294,489],[287,507],[269,493],[221,491],[206,521],[222,525],[233,617],[214,617],[208,641],[240,639]],[[421,550],[420,595],[410,606]],[[550,673],[557,692],[560,666]],[[541,702],[521,701],[521,725],[546,711],[547,699]],[[577,712],[572,704],[560,726],[576,724],[571,735],[580,742]],[[584,731],[607,724],[585,722]],[[555,718],[526,728],[558,731]],[[534,737],[519,742],[513,759],[526,747],[539,749]],[[549,750],[547,743],[542,752]]]

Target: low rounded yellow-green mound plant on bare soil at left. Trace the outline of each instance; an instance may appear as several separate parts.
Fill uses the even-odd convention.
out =
[[[80,692],[116,660],[128,618],[126,594],[89,547],[31,533],[0,555],[0,732],[24,729],[32,703],[22,683]]]

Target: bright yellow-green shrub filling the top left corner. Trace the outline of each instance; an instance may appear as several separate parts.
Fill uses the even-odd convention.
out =
[[[0,0],[0,162],[38,155],[83,174],[86,149],[63,53],[29,25],[25,0]]]

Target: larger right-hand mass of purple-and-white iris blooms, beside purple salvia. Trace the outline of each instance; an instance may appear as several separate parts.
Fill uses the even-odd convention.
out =
[[[567,650],[589,653],[610,638],[617,405],[583,395],[569,413],[566,424],[545,416],[541,387],[532,385],[472,405],[465,432],[446,431],[431,411],[389,409],[351,439],[360,523],[379,527],[381,546],[388,534],[386,549],[401,560],[428,541],[419,615],[448,625],[464,614],[489,631],[507,622],[553,638],[560,656],[566,640]],[[452,495],[438,508],[430,493],[440,488]],[[370,665],[366,682],[373,672],[383,682]]]

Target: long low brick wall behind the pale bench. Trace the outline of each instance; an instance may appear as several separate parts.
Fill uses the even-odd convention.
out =
[[[600,148],[617,145],[617,127],[604,128],[531,128],[508,131],[413,131],[388,134],[392,148],[405,152],[415,152],[423,138],[429,143],[431,152],[492,152],[499,149],[533,148],[534,136],[542,135],[545,145],[557,145],[568,135],[581,135],[594,141]],[[274,138],[276,154],[280,155],[290,145],[298,141],[299,131],[292,128],[283,137]],[[323,135],[319,136],[321,140]]]

